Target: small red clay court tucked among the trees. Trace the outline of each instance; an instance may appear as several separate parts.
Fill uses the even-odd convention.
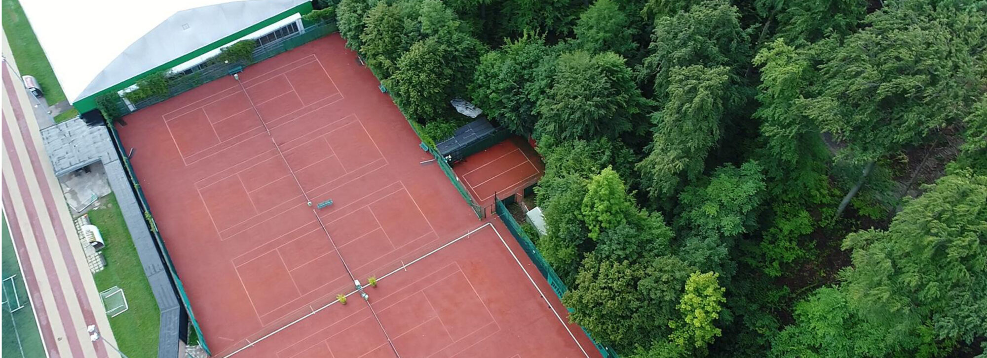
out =
[[[503,199],[538,183],[545,164],[524,139],[511,137],[456,162],[452,169],[477,204],[489,207],[494,195]]]

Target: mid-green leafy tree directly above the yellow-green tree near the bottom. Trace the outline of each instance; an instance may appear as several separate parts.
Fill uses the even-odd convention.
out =
[[[683,238],[679,257],[703,271],[733,275],[729,252],[735,238],[756,227],[756,210],[764,195],[764,175],[757,162],[727,165],[708,183],[697,182],[679,195],[682,213],[675,221]]]

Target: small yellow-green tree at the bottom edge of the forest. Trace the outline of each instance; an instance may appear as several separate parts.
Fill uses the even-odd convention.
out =
[[[680,320],[671,321],[671,341],[682,348],[706,351],[706,345],[720,336],[721,330],[714,326],[720,318],[723,292],[716,272],[693,272],[685,281],[685,293],[677,308],[682,314]]]

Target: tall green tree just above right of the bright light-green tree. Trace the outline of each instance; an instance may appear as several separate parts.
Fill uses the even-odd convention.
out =
[[[707,154],[720,141],[727,71],[698,65],[671,71],[668,100],[651,116],[654,142],[637,165],[648,197],[672,197],[682,178],[703,173]]]

